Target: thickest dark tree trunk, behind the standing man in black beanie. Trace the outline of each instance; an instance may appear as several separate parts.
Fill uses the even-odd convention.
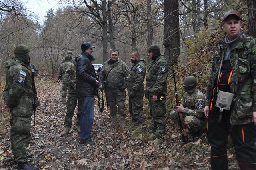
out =
[[[164,0],[164,56],[168,65],[177,64],[180,56],[178,0]]]

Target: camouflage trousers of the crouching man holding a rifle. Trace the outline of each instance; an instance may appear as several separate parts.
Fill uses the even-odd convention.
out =
[[[179,114],[176,110],[172,110],[171,112],[171,118],[175,123],[179,123]],[[200,130],[203,130],[204,128],[204,121],[196,118],[192,115],[183,115],[184,122],[186,128],[190,130],[190,132],[199,132]]]

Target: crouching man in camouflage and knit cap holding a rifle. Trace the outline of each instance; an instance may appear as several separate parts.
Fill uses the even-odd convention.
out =
[[[180,100],[180,106],[175,106],[176,110],[171,112],[171,118],[174,122],[179,123],[178,112],[182,112],[186,128],[191,134],[197,134],[202,132],[206,125],[204,118],[205,96],[196,88],[195,77],[186,77],[182,83],[185,93]]]

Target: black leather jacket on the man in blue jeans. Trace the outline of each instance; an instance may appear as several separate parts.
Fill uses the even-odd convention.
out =
[[[78,97],[97,96],[96,74],[91,54],[82,52],[76,62],[76,94]]]

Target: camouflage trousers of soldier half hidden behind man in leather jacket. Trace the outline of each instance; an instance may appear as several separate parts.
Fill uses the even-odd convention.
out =
[[[82,100],[80,100],[80,98],[77,98],[76,94],[68,94],[67,112],[64,120],[64,127],[71,127],[72,118],[74,116],[77,102],[78,102],[78,106],[77,106],[76,124],[80,125],[82,107],[83,107]]]

